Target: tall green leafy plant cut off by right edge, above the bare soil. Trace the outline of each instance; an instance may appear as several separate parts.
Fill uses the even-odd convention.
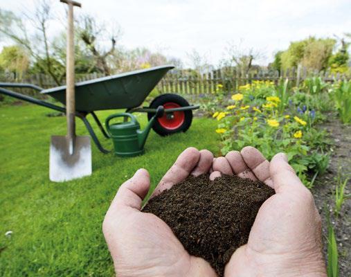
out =
[[[351,123],[351,80],[336,84],[332,96],[341,122]]]

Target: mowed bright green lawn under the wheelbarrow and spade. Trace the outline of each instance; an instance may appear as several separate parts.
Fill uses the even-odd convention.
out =
[[[168,137],[152,131],[145,154],[134,158],[102,154],[92,143],[93,175],[52,183],[50,137],[64,135],[66,121],[46,116],[51,112],[34,105],[0,107],[0,276],[114,276],[101,225],[120,184],[146,168],[153,189],[189,146],[219,152],[217,123],[195,118],[188,132]],[[113,112],[98,116],[105,120]],[[138,119],[145,125],[145,114]],[[77,125],[78,134],[87,134],[79,119]],[[100,139],[111,149],[111,141]],[[13,232],[10,238],[6,231]]]

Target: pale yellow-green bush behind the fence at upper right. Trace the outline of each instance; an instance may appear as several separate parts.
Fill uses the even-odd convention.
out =
[[[326,69],[335,44],[335,39],[316,39],[315,37],[291,42],[289,48],[280,55],[282,69],[297,67],[298,64],[318,71]]]

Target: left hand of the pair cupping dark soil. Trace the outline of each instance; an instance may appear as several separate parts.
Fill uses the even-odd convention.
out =
[[[152,197],[183,181],[208,172],[213,154],[188,148],[168,170]],[[190,256],[170,227],[152,213],[141,212],[150,188],[147,170],[138,170],[118,189],[102,224],[118,277],[217,276],[202,258]]]

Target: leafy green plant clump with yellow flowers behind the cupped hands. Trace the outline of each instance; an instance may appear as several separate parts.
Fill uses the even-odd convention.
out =
[[[326,132],[316,127],[318,111],[300,109],[290,102],[289,82],[255,81],[241,86],[226,110],[217,111],[217,133],[221,134],[222,154],[251,145],[271,159],[287,153],[291,166],[307,187],[309,172],[314,178],[327,170],[330,156]],[[311,96],[312,97],[312,96]],[[315,96],[318,97],[318,96]]]

